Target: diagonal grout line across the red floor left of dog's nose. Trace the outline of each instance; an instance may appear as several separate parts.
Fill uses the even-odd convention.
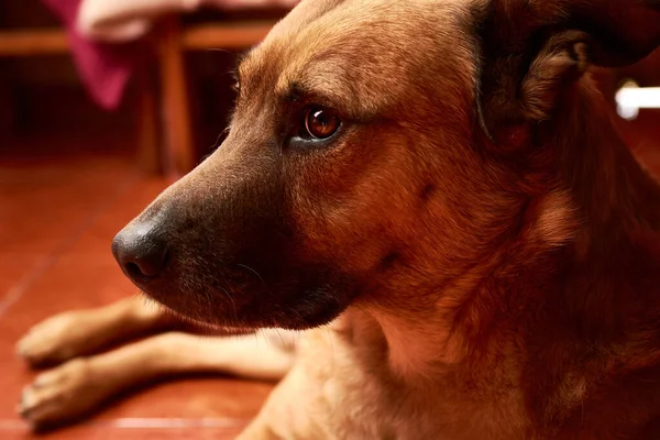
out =
[[[86,220],[81,221],[75,229],[74,233],[72,233],[68,238],[62,240],[59,244],[55,248],[55,250],[43,258],[41,258],[25,276],[21,278],[16,284],[9,288],[7,295],[2,300],[0,300],[0,320],[4,317],[7,311],[18,301],[20,300],[25,292],[48,270],[51,268],[62,256],[63,253],[68,251],[85,232],[89,230],[89,228],[112,207],[117,200],[124,194],[129,191],[132,187],[134,187],[139,180],[140,173],[132,172],[129,174],[129,177],[123,179],[124,183],[119,187],[119,189],[110,196],[108,201],[101,204],[101,206],[96,209],[91,216],[87,217]]]

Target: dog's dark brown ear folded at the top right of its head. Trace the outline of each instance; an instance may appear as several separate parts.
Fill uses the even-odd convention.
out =
[[[480,120],[504,142],[550,119],[590,64],[632,64],[660,45],[660,0],[488,0],[477,22]]]

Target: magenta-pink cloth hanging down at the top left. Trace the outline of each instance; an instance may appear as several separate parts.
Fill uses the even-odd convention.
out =
[[[121,103],[138,47],[135,43],[96,43],[81,36],[76,31],[81,1],[43,0],[66,26],[74,61],[91,99],[101,108],[113,110]]]

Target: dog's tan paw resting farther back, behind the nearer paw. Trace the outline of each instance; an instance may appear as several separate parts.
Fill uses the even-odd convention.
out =
[[[30,329],[16,351],[33,366],[58,364],[108,342],[107,327],[98,310],[67,311]]]

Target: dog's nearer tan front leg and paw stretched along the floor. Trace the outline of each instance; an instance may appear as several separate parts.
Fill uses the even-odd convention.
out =
[[[47,427],[79,418],[119,392],[153,378],[217,372],[276,381],[292,362],[290,351],[254,334],[201,338],[168,332],[38,375],[24,389],[20,411],[35,427]]]

